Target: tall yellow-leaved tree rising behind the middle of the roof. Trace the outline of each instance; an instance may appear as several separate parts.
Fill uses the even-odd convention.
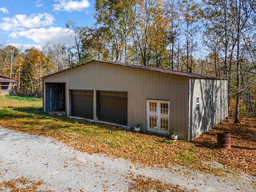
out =
[[[166,30],[166,14],[162,0],[127,0],[134,55],[140,56],[140,64],[152,64],[155,46],[160,44],[162,31]],[[160,35],[158,37],[158,35]],[[163,39],[162,39],[163,40]],[[157,45],[158,48],[160,45]]]

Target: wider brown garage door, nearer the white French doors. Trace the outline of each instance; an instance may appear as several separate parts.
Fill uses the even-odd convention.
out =
[[[127,125],[127,92],[98,91],[98,119]]]

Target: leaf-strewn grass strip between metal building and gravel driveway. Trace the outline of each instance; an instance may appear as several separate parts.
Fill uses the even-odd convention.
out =
[[[207,137],[196,142],[174,141],[166,136],[134,132],[112,124],[46,114],[42,112],[42,98],[5,96],[5,100],[10,112],[0,96],[0,126],[54,137],[76,150],[90,154],[100,153],[116,158],[126,158],[131,162],[139,162],[147,166],[164,165],[168,167],[170,163],[179,164],[219,174],[222,170],[212,170],[203,162],[216,160],[225,164],[233,151],[229,150],[225,155],[220,153],[219,148],[207,148],[206,144],[212,139],[211,134],[204,134],[204,137]],[[215,145],[214,142],[211,143],[211,146],[213,145]],[[251,150],[252,152],[253,150]],[[236,164],[232,165],[234,167]],[[232,169],[234,169],[233,167]],[[238,170],[243,167],[236,166]],[[251,169],[249,173],[255,175],[255,169]]]

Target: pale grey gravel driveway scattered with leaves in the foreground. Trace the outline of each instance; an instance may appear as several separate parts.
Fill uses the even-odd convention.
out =
[[[212,166],[221,165],[212,163]],[[138,174],[178,185],[185,191],[253,192],[256,189],[256,178],[246,174],[227,173],[221,177],[177,166],[167,169],[134,165],[125,159],[86,154],[53,138],[0,127],[0,183],[24,176],[44,182],[37,191],[127,192],[131,176]],[[8,189],[0,185],[0,191]]]

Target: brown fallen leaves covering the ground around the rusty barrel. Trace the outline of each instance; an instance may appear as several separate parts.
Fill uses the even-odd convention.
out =
[[[217,131],[230,132],[231,149],[217,148]],[[234,124],[234,118],[218,124],[214,129],[192,142],[201,160],[214,159],[231,170],[256,176],[256,119],[242,118]],[[198,156],[198,158],[200,158]]]

